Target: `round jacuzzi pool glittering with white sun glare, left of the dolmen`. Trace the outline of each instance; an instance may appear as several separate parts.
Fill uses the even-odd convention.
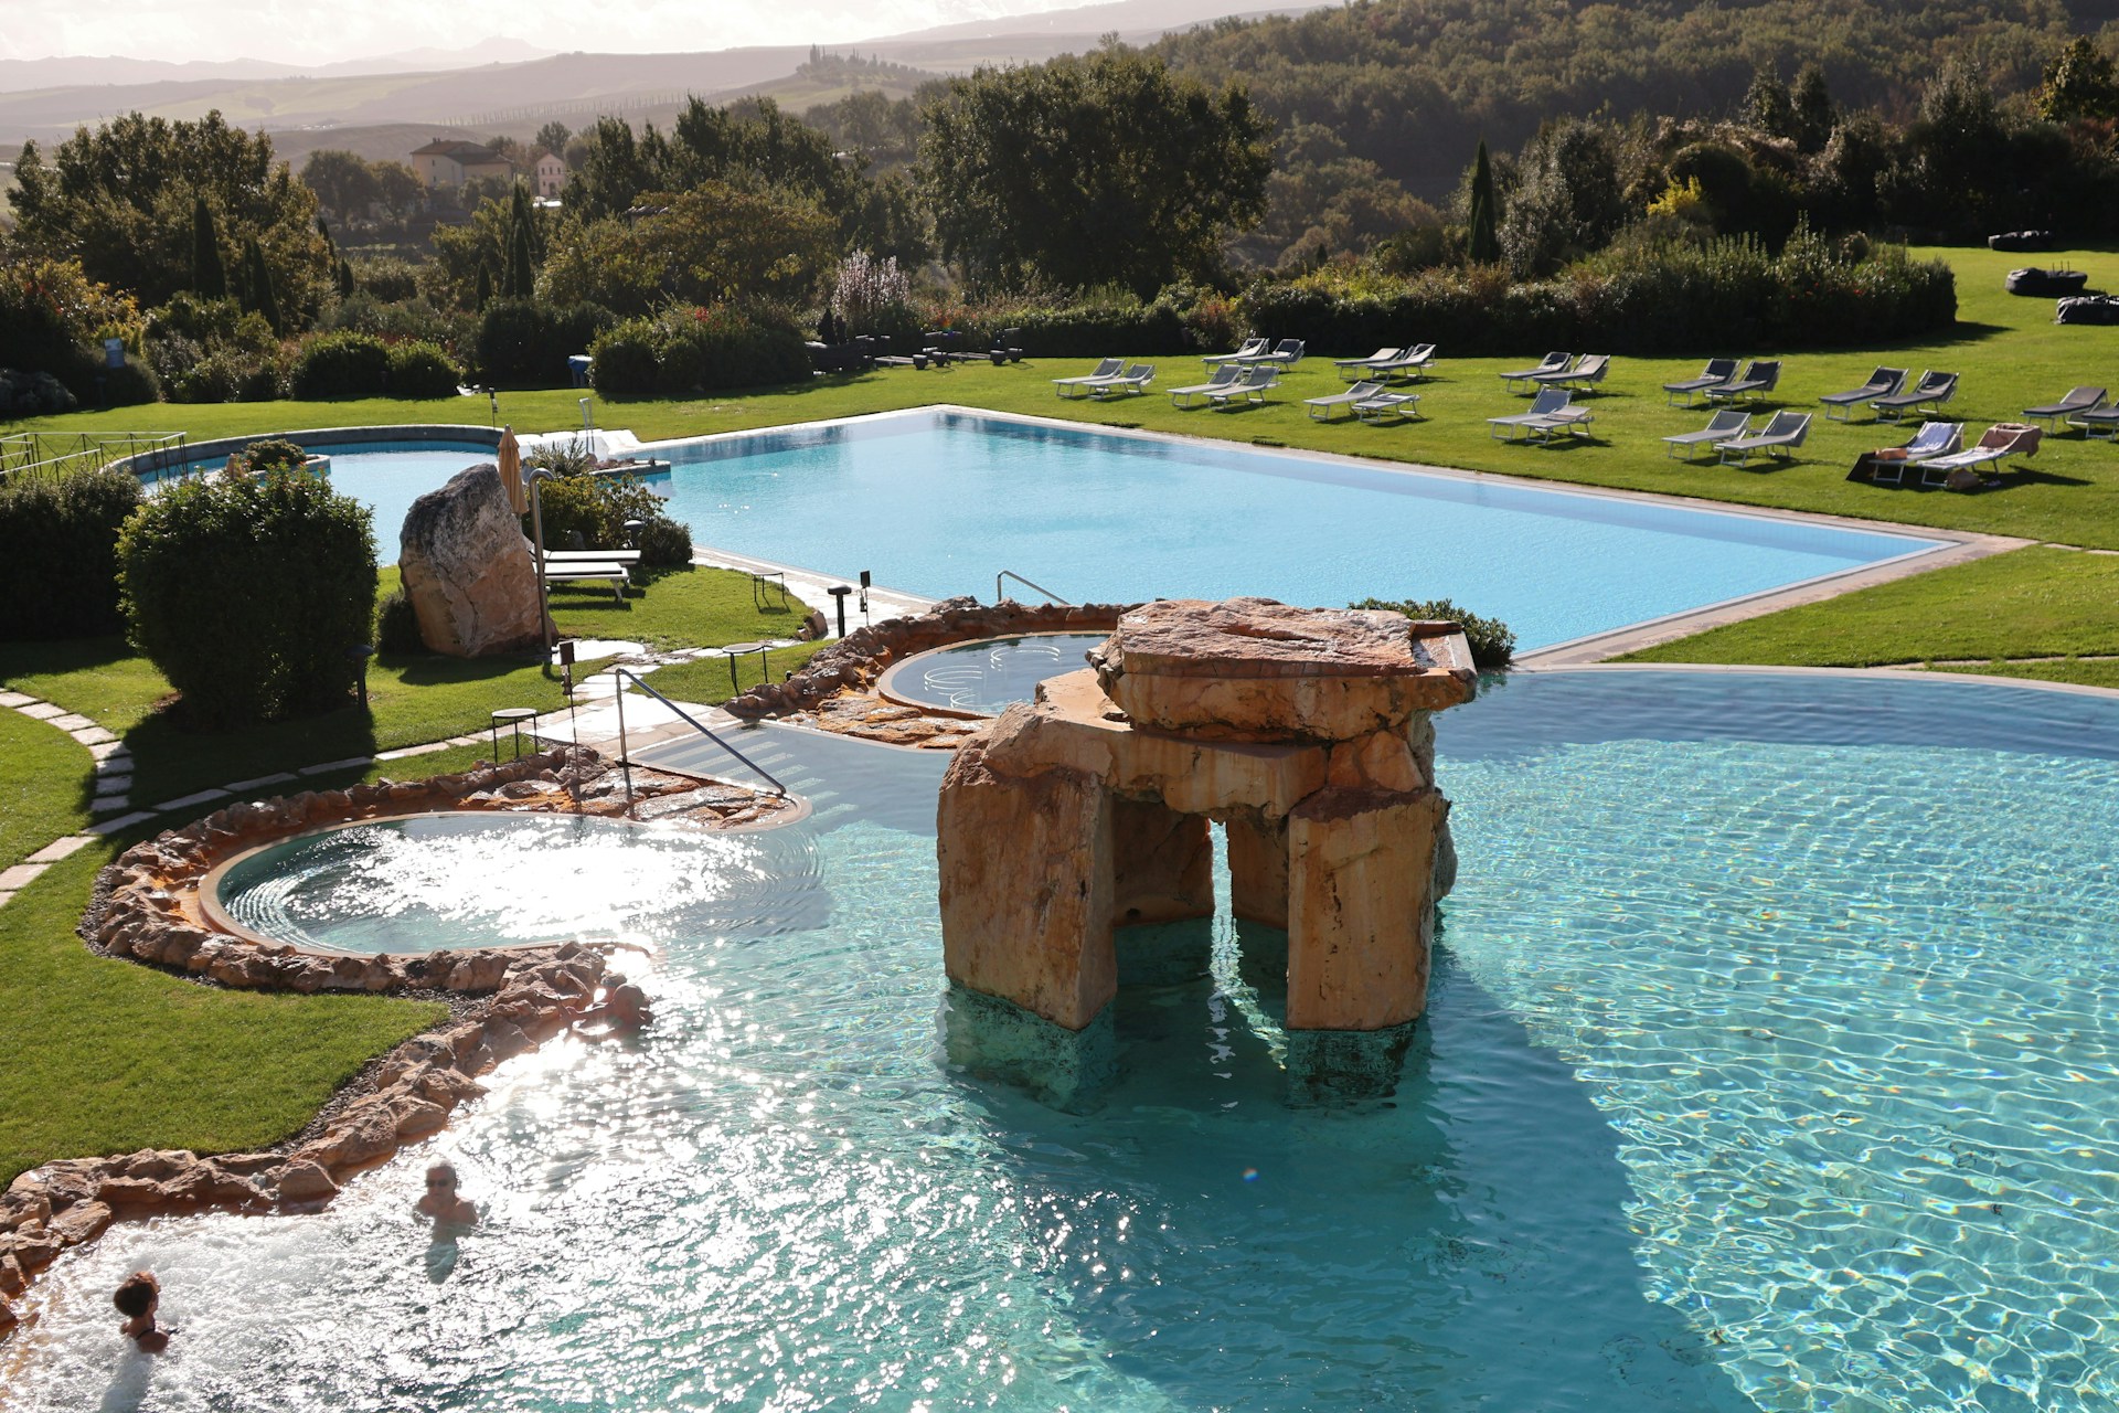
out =
[[[803,845],[776,833],[422,813],[284,839],[225,864],[203,892],[239,932],[362,955],[625,941],[674,913],[740,930],[816,881]]]

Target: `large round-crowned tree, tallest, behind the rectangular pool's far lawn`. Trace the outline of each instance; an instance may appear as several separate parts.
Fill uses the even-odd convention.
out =
[[[924,117],[937,235],[979,282],[1153,294],[1212,275],[1223,242],[1265,216],[1271,129],[1244,89],[1127,49],[985,68],[949,81]]]

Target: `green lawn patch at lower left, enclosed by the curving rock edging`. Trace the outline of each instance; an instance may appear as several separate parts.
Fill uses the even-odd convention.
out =
[[[51,1159],[273,1144],[445,1015],[377,996],[222,991],[97,958],[74,924],[117,852],[87,847],[0,907],[0,1184]]]

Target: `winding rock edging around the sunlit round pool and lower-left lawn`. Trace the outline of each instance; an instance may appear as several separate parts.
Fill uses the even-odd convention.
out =
[[[422,809],[583,809],[585,801],[608,803],[606,775],[595,750],[562,746],[432,780],[235,803],[108,864],[81,926],[95,951],[227,987],[451,994],[451,1015],[441,1030],[371,1061],[303,1133],[273,1150],[208,1159],[142,1148],[61,1159],[17,1176],[0,1195],[0,1339],[17,1324],[8,1299],[59,1252],[93,1241],[114,1220],[326,1205],[354,1171],[428,1138],[449,1110],[485,1093],[477,1076],[568,1030],[600,985],[619,981],[606,958],[581,943],[409,958],[341,958],[256,943],[218,932],[193,911],[191,898],[208,871],[267,839],[348,820]]]

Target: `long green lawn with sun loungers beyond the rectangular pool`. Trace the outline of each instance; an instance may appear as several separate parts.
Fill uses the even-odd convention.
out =
[[[799,388],[699,400],[598,400],[595,422],[598,426],[631,428],[644,439],[661,439],[930,403],[966,403],[1240,443],[1267,441],[1401,462],[1500,470],[1952,530],[1983,530],[2064,544],[2119,547],[2119,447],[2083,443],[2079,434],[2049,441],[2045,451],[2028,462],[2034,470],[2011,477],[2002,489],[1977,496],[1892,491],[1852,485],[1844,479],[1860,451],[1897,445],[1911,434],[1911,428],[1890,424],[1841,426],[1827,422],[1822,409],[1816,407],[1818,394],[1860,386],[1877,362],[1907,364],[1913,373],[1922,369],[1962,373],[1962,392],[1949,411],[1962,417],[1975,434],[1988,422],[2019,417],[2026,407],[2047,403],[2072,383],[2100,379],[2119,383],[2119,373],[2106,373],[2106,369],[2119,366],[2119,328],[2062,328],[2051,322],[2051,301],[2015,299],[2002,290],[2002,278],[2019,256],[1988,250],[1918,250],[1916,254],[1939,254],[1958,271],[1960,322],[1949,335],[1858,352],[1716,347],[1699,350],[1687,358],[1619,358],[1608,390],[1591,400],[1598,441],[1553,451],[1502,447],[1488,439],[1485,428],[1488,417],[1524,407],[1524,398],[1511,398],[1502,392],[1496,373],[1521,366],[1545,350],[1521,350],[1509,358],[1452,358],[1447,347],[1441,350],[1441,375],[1422,388],[1422,411],[1428,413],[1428,419],[1390,428],[1358,426],[1346,419],[1320,426],[1310,422],[1301,407],[1301,398],[1339,388],[1329,364],[1331,354],[1367,354],[1371,350],[1312,350],[1316,356],[1293,371],[1284,388],[1274,394],[1271,407],[1231,413],[1178,411],[1161,392],[1108,405],[1062,403],[1053,396],[1049,379],[1083,371],[1083,360],[1034,360],[1007,369],[990,364],[958,364],[941,371],[882,369],[852,377],[814,379]],[[2041,258],[2087,269],[2091,284],[2119,284],[2119,254],[2077,250]],[[1420,335],[1418,328],[1405,330],[1407,339]],[[1125,354],[1127,350],[1110,352]],[[1657,439],[1702,426],[1706,413],[1666,407],[1661,383],[1695,375],[1708,354],[1786,358],[1780,403],[1820,413],[1812,424],[1810,443],[1799,464],[1769,472],[1742,472],[1706,464],[1682,466],[1663,458]],[[1157,388],[1195,381],[1199,375],[1199,364],[1191,358],[1159,356],[1148,362],[1159,369]],[[511,419],[517,430],[564,430],[578,426],[578,396],[570,388],[511,392],[500,398],[500,415]],[[483,422],[483,400],[477,398],[163,405],[72,413],[23,426],[68,434],[186,430],[203,439],[309,426]],[[971,587],[966,585],[966,589]]]

